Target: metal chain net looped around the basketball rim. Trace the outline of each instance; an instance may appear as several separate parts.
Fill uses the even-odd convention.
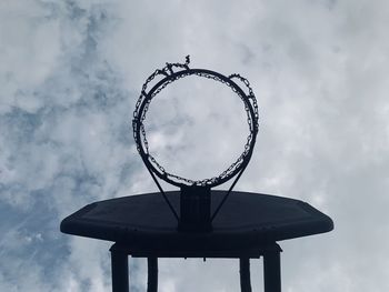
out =
[[[179,175],[176,175],[176,174],[172,174],[172,173],[169,173],[166,171],[166,169],[160,165],[157,160],[150,154],[150,151],[149,151],[149,142],[147,140],[147,137],[146,137],[146,131],[144,131],[144,124],[143,124],[143,121],[146,119],[146,113],[149,109],[149,104],[151,102],[151,100],[159,93],[161,92],[168,84],[181,79],[181,78],[184,78],[187,75],[191,75],[193,73],[182,73],[182,74],[179,74],[179,75],[176,75],[174,78],[170,78],[170,79],[167,79],[166,82],[163,82],[152,94],[151,97],[148,97],[148,94],[146,93],[146,90],[149,85],[149,83],[151,81],[153,81],[158,75],[161,75],[162,78],[166,78],[166,77],[171,77],[170,74],[173,73],[173,68],[183,68],[184,70],[189,70],[189,63],[190,63],[190,59],[189,59],[189,56],[186,57],[186,62],[184,63],[167,63],[166,67],[163,67],[162,69],[157,69],[151,75],[148,77],[148,79],[146,80],[146,82],[143,83],[142,85],[142,90],[141,90],[141,94],[137,101],[137,104],[136,104],[136,109],[133,111],[133,119],[137,119],[138,118],[138,113],[139,113],[139,110],[140,110],[140,105],[142,104],[143,100],[146,98],[149,98],[147,100],[147,103],[144,104],[144,109],[142,111],[142,117],[140,117],[139,121],[140,121],[140,131],[141,131],[141,137],[142,137],[142,141],[138,141],[138,137],[136,134],[136,127],[137,127],[137,123],[132,122],[132,127],[133,127],[133,137],[134,137],[134,140],[136,140],[136,143],[137,143],[137,150],[138,152],[140,152],[140,143],[142,143],[144,145],[144,149],[146,149],[146,153],[150,160],[150,162],[162,173],[162,175],[164,177],[169,177],[170,179],[172,180],[177,180],[177,181],[181,181],[181,182],[184,182],[184,183],[188,183],[188,184],[192,184],[192,185],[202,185],[202,187],[206,187],[206,185],[209,185],[209,184],[215,184],[217,183],[218,181],[222,180],[223,178],[228,177],[229,173],[233,172],[236,169],[238,169],[242,163],[243,163],[243,160],[245,160],[245,157],[248,155],[249,151],[250,151],[250,143],[253,139],[253,135],[257,134],[257,131],[258,131],[258,118],[259,118],[259,113],[258,113],[258,104],[257,104],[257,99],[256,99],[256,95],[250,87],[250,82],[241,77],[240,74],[231,74],[229,75],[228,78],[230,80],[232,80],[233,78],[238,79],[239,81],[241,81],[246,88],[248,89],[249,93],[248,93],[248,98],[249,98],[249,101],[251,102],[251,107],[253,109],[253,113],[255,113],[255,121],[251,120],[251,115],[250,115],[250,110],[248,108],[248,105],[246,104],[245,102],[245,99],[241,95],[240,92],[238,92],[238,90],[231,85],[231,83],[218,78],[217,75],[212,75],[212,74],[209,74],[209,73],[205,73],[205,72],[196,72],[194,74],[196,75],[199,75],[199,77],[203,77],[203,78],[207,78],[207,79],[211,79],[211,80],[215,80],[217,82],[221,82],[226,85],[228,85],[235,93],[237,93],[239,95],[239,98],[245,102],[245,110],[247,112],[247,123],[249,124],[249,128],[250,128],[250,134],[248,135],[247,138],[247,142],[245,144],[245,150],[238,157],[237,161],[235,161],[230,167],[228,167],[227,170],[225,170],[223,172],[221,172],[218,177],[213,177],[213,178],[210,178],[210,179],[203,179],[203,180],[198,180],[198,181],[194,181],[194,180],[190,180],[190,179],[186,179],[186,178],[182,178],[182,177],[179,177]]]

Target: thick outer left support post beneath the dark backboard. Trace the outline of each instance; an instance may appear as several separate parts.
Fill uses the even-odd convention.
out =
[[[128,254],[116,249],[111,251],[112,292],[129,292],[128,282]]]

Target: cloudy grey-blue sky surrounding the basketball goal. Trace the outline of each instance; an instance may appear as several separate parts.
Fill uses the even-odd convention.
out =
[[[385,0],[2,0],[0,291],[110,291],[111,243],[59,224],[93,201],[157,191],[130,121],[146,78],[187,54],[256,92],[258,140],[236,190],[335,221],[280,242],[283,291],[389,291],[388,13]],[[150,105],[148,138],[172,171],[212,175],[242,148],[245,111],[217,84],[182,82]],[[261,291],[261,261],[251,268]],[[144,291],[146,261],[130,270]],[[233,260],[161,260],[159,274],[162,292],[239,290]]]

